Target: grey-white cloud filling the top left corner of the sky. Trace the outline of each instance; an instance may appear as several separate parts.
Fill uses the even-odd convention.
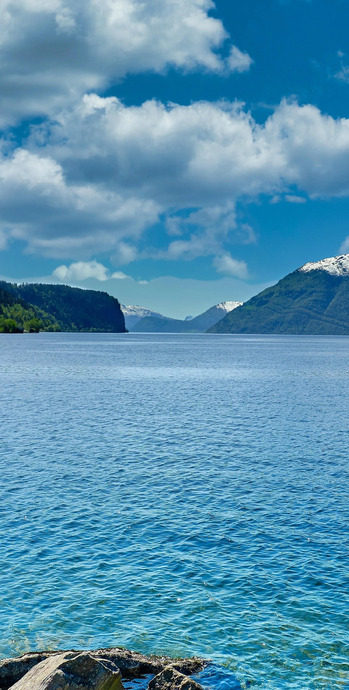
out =
[[[54,115],[127,74],[223,72],[228,36],[212,9],[212,0],[0,0],[0,124]]]

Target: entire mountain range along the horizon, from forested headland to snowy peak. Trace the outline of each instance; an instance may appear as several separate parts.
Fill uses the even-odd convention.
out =
[[[106,292],[0,281],[0,332],[270,333],[349,335],[349,254],[307,263],[245,304],[221,302],[195,318],[122,306]]]

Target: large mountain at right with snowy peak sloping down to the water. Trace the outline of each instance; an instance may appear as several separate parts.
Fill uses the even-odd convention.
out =
[[[304,264],[209,332],[349,335],[349,254]]]

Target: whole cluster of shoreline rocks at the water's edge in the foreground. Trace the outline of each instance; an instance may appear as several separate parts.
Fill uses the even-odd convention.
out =
[[[33,652],[0,661],[0,690],[127,690],[140,679],[148,690],[202,690],[190,676],[207,663],[144,656],[118,647]]]

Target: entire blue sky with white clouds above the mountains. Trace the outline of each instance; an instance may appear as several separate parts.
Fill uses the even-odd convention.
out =
[[[195,316],[349,252],[348,0],[0,0],[0,277]]]

